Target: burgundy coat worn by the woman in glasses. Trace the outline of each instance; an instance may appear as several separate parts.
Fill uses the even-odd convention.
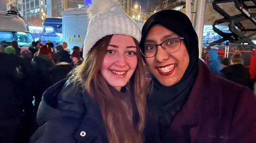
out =
[[[253,92],[215,76],[202,61],[188,101],[162,141],[155,117],[148,115],[145,143],[256,143]]]

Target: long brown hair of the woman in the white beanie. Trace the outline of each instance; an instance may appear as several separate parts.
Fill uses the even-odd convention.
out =
[[[122,100],[110,90],[100,68],[106,54],[106,49],[112,35],[100,39],[89,51],[83,63],[74,69],[70,79],[85,87],[90,96],[95,98],[102,112],[108,141],[110,143],[142,143],[142,132],[145,122],[146,96],[144,90],[145,67],[138,41],[137,46],[138,65],[128,84],[131,95],[135,98],[139,120],[136,126],[133,123],[132,107],[127,108],[127,101]]]

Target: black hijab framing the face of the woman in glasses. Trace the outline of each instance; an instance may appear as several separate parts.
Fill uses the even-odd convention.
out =
[[[170,125],[178,111],[186,103],[196,80],[198,71],[198,36],[189,20],[182,12],[163,10],[150,16],[142,28],[140,46],[144,44],[148,31],[152,26],[160,24],[183,37],[186,45],[189,64],[181,80],[173,86],[163,86],[152,76],[152,86],[148,98],[148,110],[160,118],[160,124],[166,128]],[[161,31],[159,31],[161,32]]]

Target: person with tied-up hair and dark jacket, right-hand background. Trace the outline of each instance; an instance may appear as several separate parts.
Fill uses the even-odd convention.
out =
[[[243,61],[243,57],[239,53],[233,55],[231,58],[231,65],[221,70],[222,77],[240,85],[247,86],[253,90],[249,69],[244,67]]]

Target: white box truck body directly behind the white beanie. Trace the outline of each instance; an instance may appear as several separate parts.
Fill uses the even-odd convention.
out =
[[[68,44],[68,48],[71,50],[74,46],[81,47],[84,45],[89,24],[87,8],[64,9],[61,15],[63,41]],[[138,24],[140,30],[142,30],[144,23],[138,20],[134,21]]]

